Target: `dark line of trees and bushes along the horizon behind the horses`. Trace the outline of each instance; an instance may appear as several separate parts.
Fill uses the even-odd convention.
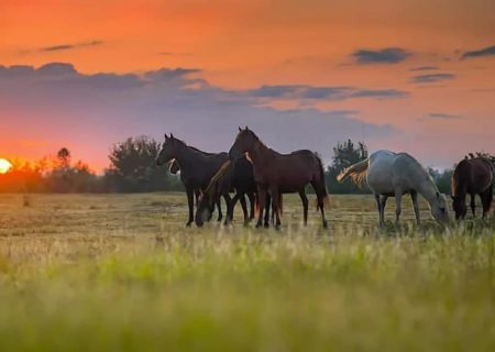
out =
[[[183,190],[180,179],[168,173],[167,167],[156,166],[155,158],[161,144],[146,136],[129,138],[116,143],[109,157],[109,166],[97,175],[88,164],[73,161],[69,150],[62,147],[55,156],[36,163],[13,163],[13,167],[0,175],[0,193],[145,193]],[[327,187],[331,194],[366,194],[367,187],[358,187],[350,180],[337,182],[337,175],[345,167],[367,157],[363,142],[339,142],[332,148],[331,164],[326,168]],[[483,156],[495,164],[495,156],[470,153],[465,157]],[[453,168],[429,168],[440,191],[450,194]],[[308,189],[309,190],[309,189]]]

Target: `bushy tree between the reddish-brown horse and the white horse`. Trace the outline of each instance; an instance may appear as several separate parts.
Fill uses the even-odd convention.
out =
[[[367,157],[366,145],[358,142],[355,145],[351,140],[339,142],[333,147],[332,164],[327,168],[327,187],[330,193],[334,194],[358,194],[369,193],[367,188],[360,188],[351,180],[342,184],[337,182],[337,176],[348,166],[359,163]]]

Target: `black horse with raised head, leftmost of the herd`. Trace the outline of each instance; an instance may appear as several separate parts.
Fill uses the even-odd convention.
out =
[[[189,227],[194,221],[194,195],[196,191],[205,190],[211,177],[229,160],[227,153],[205,153],[198,148],[188,146],[183,141],[165,134],[165,143],[156,157],[158,166],[175,160],[180,167],[180,180],[186,187],[187,204],[189,208],[189,218],[186,223]],[[223,195],[227,208],[230,205],[230,196]],[[222,219],[220,201],[217,204],[219,209],[219,221]]]

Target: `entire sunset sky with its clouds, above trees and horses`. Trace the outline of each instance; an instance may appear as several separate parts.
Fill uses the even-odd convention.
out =
[[[2,0],[0,157],[100,172],[128,136],[228,151],[248,125],[450,167],[495,154],[493,0]]]

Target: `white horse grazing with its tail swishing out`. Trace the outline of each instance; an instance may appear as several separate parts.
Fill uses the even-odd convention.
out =
[[[394,153],[391,151],[377,151],[369,158],[351,165],[337,177],[341,183],[351,177],[354,183],[367,183],[376,199],[380,215],[380,224],[385,223],[385,205],[388,197],[395,196],[395,221],[400,217],[400,202],[403,195],[410,194],[419,224],[418,194],[428,201],[431,215],[437,221],[448,222],[447,198],[440,194],[428,172],[407,153]]]

